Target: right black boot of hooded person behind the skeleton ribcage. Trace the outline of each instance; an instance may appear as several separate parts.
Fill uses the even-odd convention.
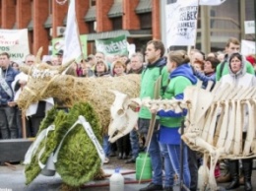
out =
[[[244,190],[251,191],[252,159],[242,159],[242,169],[244,174]]]

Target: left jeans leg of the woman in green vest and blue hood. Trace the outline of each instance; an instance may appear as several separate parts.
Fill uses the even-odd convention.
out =
[[[161,151],[161,156],[163,158],[164,162],[164,187],[172,187],[174,185],[174,174],[175,171],[172,167],[171,161],[169,159],[169,154],[167,150],[167,145],[166,144],[161,144],[160,143],[160,151]]]

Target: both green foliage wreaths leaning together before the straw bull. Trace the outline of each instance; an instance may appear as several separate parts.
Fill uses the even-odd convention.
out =
[[[55,130],[48,133],[35,154],[32,162],[25,167],[26,184],[40,173],[38,165],[38,153],[45,146],[45,152],[41,156],[41,162],[46,163],[50,154],[57,148],[65,133],[78,120],[78,116],[83,115],[90,122],[99,143],[102,143],[101,128],[99,120],[93,107],[89,103],[79,102],[69,111],[58,111],[56,108],[48,111],[47,116],[42,121],[39,132],[54,124]],[[82,125],[77,125],[66,137],[55,163],[56,170],[65,183],[70,186],[80,186],[88,182],[100,173],[100,159],[97,156],[96,148],[85,132]]]

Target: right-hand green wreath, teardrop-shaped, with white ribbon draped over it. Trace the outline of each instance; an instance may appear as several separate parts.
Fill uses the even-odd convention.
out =
[[[102,143],[101,129],[93,107],[87,103],[75,104],[69,112],[67,125],[71,127],[79,115],[85,116],[97,140]],[[93,180],[100,170],[96,148],[82,125],[77,125],[67,135],[59,152],[56,169],[63,181],[71,186],[80,186]]]

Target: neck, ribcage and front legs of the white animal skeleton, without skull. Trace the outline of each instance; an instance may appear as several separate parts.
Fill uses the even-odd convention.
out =
[[[155,110],[188,110],[186,128],[181,138],[192,150],[204,154],[204,184],[200,190],[205,190],[206,185],[211,190],[218,190],[214,175],[218,159],[247,159],[256,156],[256,88],[235,88],[217,83],[210,92],[211,87],[212,84],[209,84],[207,90],[203,90],[200,83],[197,87],[188,87],[182,100],[126,100]],[[246,126],[248,133],[243,146],[242,133]],[[207,169],[209,157],[210,170]]]

